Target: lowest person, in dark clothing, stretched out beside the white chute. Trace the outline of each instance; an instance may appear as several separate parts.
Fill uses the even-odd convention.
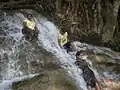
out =
[[[81,59],[80,54],[81,54],[80,51],[76,53],[75,64],[82,69],[83,78],[87,84],[88,90],[92,90],[92,88],[95,88],[96,90],[100,90],[94,72],[89,68],[89,64],[86,62],[86,60]]]

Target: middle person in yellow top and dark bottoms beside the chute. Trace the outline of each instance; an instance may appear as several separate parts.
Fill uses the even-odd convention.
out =
[[[75,45],[73,40],[68,41],[68,33],[59,31],[58,43],[61,48],[64,48],[67,52],[74,51]]]

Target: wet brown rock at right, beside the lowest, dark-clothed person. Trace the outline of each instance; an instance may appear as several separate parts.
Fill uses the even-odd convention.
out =
[[[88,59],[92,61],[93,66],[95,66],[100,75],[103,72],[120,74],[120,60],[113,59],[112,57],[104,54],[91,54],[88,56]],[[120,77],[117,78],[119,79]]]

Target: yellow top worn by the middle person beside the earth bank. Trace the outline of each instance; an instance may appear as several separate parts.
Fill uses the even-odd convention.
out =
[[[60,32],[59,32],[59,38],[58,38],[58,43],[59,45],[62,47],[64,44],[66,44],[68,42],[68,33],[65,32],[64,35],[62,35]]]

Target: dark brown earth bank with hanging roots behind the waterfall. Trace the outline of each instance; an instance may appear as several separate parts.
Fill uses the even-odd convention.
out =
[[[1,9],[33,8],[48,17],[69,39],[120,51],[120,0],[9,0]],[[16,6],[17,5],[17,6]]]

